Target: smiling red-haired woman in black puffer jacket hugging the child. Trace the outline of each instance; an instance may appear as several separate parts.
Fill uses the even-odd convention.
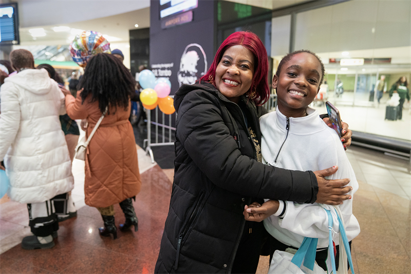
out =
[[[336,168],[302,172],[261,163],[267,72],[258,36],[235,32],[207,74],[175,94],[174,184],[156,273],[255,273],[266,231],[245,221],[246,205],[263,198],[338,205],[349,198],[350,188],[342,188],[348,179],[324,178]]]

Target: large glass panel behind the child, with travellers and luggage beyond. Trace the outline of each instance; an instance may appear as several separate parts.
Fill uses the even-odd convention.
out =
[[[389,89],[399,78],[405,76],[408,83],[411,78],[410,18],[408,0],[352,0],[297,13],[295,50],[316,52],[326,68],[328,93],[314,107],[324,113],[323,101],[329,100],[351,130],[411,140],[407,100],[401,120],[385,119]],[[281,19],[273,19],[273,29],[275,20]],[[350,65],[353,59],[361,63]],[[385,82],[379,92],[381,75]]]

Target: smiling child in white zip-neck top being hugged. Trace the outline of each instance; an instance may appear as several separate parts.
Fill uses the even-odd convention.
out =
[[[330,179],[349,178],[351,195],[358,190],[354,171],[344,152],[338,134],[308,105],[317,95],[324,78],[324,65],[314,53],[299,50],[288,54],[279,63],[273,77],[278,105],[275,112],[260,118],[261,154],[263,163],[290,170],[321,170],[337,166]],[[348,241],[360,233],[360,225],[352,214],[352,199],[339,205],[345,222]],[[275,250],[298,249],[304,237],[319,238],[316,262],[326,270],[328,247],[328,217],[323,209],[331,206],[319,203],[300,204],[287,201],[266,200],[262,206],[253,203],[245,207],[248,221],[264,220],[271,234],[271,257]],[[333,213],[333,229],[339,232],[337,215]],[[339,245],[339,234],[333,241]],[[339,249],[337,248],[337,252]],[[335,263],[338,267],[339,254]]]

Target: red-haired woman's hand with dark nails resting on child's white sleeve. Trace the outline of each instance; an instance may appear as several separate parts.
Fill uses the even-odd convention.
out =
[[[334,174],[338,170],[337,166],[329,169],[314,171],[318,182],[317,200],[315,202],[327,205],[341,205],[344,200],[351,199],[346,193],[352,190],[352,187],[344,187],[350,179],[328,180],[324,177]]]

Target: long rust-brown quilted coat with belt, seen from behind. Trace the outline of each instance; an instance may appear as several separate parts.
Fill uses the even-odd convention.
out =
[[[66,110],[71,119],[86,119],[86,138],[94,129],[102,113],[99,102],[90,103],[90,96],[81,102],[66,96]],[[133,127],[128,121],[127,110],[117,106],[109,108],[87,147],[85,161],[85,203],[91,207],[107,207],[118,204],[140,192],[136,141]]]

